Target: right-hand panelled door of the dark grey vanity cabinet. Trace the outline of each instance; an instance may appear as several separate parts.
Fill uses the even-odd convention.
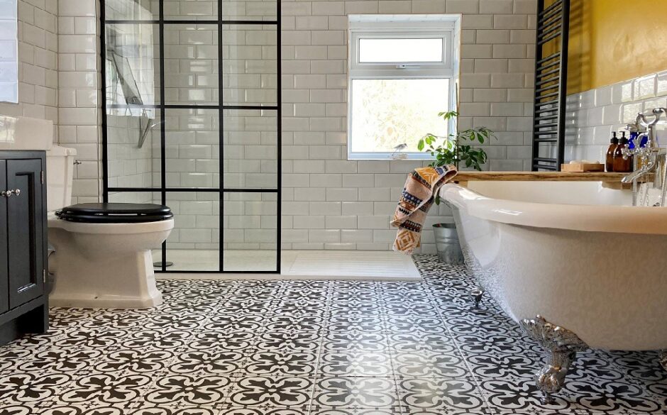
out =
[[[6,160],[9,307],[43,294],[44,206],[42,161]],[[18,194],[17,194],[18,193]]]

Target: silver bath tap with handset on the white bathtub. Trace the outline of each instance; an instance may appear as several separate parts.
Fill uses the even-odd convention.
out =
[[[634,148],[624,148],[623,158],[633,156],[633,172],[621,179],[622,183],[632,183],[632,204],[637,206],[638,183],[640,179],[648,177],[655,173],[653,187],[661,189],[661,198],[659,206],[665,206],[667,196],[667,148],[660,148],[658,145],[656,125],[663,114],[667,114],[667,109],[656,108],[651,111],[653,119],[649,121],[651,115],[638,114],[635,123],[628,124],[628,130],[637,131],[639,135],[635,139]],[[646,138],[646,145],[641,146],[641,140]]]

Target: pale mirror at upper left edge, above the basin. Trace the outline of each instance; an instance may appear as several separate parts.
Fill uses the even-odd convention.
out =
[[[0,0],[0,101],[18,104],[18,0]]]

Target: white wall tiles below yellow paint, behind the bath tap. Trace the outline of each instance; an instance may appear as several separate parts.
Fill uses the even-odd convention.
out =
[[[605,162],[612,132],[655,108],[667,108],[667,71],[568,96],[566,161]],[[658,142],[667,145],[667,125],[658,125]]]

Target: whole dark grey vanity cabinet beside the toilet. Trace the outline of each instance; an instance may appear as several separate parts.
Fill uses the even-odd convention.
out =
[[[48,328],[43,151],[0,151],[0,344]]]

